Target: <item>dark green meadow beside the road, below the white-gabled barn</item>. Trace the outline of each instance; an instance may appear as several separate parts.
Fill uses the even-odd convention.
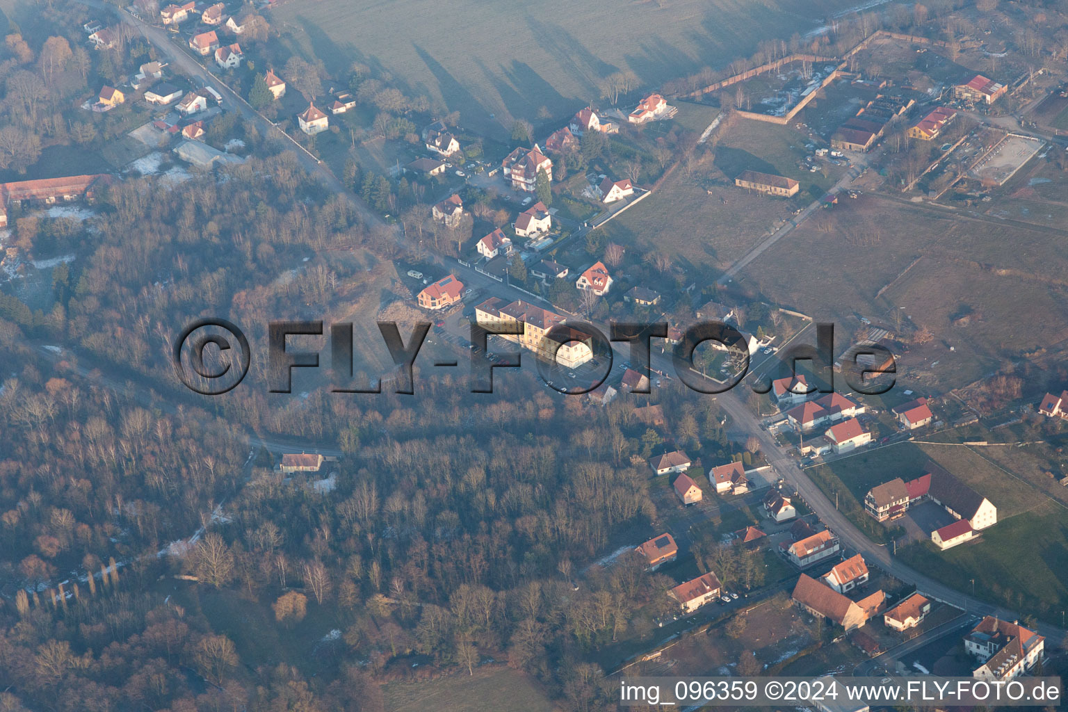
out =
[[[924,542],[904,550],[910,566],[962,591],[1061,623],[1068,606],[1068,518],[1049,503],[999,521],[983,537],[947,552]]]

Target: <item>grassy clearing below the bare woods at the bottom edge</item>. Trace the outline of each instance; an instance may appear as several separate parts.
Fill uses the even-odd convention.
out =
[[[552,712],[553,706],[522,673],[484,666],[474,675],[391,682],[382,687],[387,712]]]

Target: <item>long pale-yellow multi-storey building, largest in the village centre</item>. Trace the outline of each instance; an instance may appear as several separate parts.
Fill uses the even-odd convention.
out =
[[[505,304],[503,299],[490,297],[475,307],[474,314],[475,320],[487,331],[505,325],[523,325],[522,334],[502,336],[545,361],[552,361],[555,352],[557,364],[575,368],[593,358],[593,338],[588,334],[566,329],[564,317],[530,302],[518,300]],[[565,327],[555,341],[548,337],[554,327]]]

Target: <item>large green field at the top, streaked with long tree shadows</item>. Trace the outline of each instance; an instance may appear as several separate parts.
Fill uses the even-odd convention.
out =
[[[271,23],[339,76],[359,61],[398,86],[443,100],[465,125],[559,117],[601,95],[603,78],[632,72],[655,86],[789,38],[851,0],[345,0],[281,3]],[[487,12],[491,9],[492,12]],[[628,107],[629,108],[629,107]],[[544,112],[543,112],[543,115]]]

